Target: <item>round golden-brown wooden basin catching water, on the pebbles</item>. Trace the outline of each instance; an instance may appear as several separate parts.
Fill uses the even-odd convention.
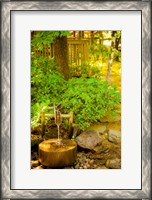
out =
[[[58,143],[60,141],[60,143]],[[50,139],[39,144],[39,162],[50,168],[73,165],[77,143],[70,139]]]

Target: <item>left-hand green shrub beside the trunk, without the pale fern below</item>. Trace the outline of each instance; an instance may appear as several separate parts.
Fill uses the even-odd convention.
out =
[[[52,103],[58,102],[65,83],[58,69],[52,58],[32,59],[32,103],[47,102],[50,99]]]

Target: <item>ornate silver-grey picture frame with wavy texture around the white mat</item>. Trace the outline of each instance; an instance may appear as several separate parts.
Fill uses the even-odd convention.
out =
[[[14,107],[12,99],[14,88],[14,72],[12,69],[13,38],[11,33],[14,29],[11,13],[15,11],[139,11],[141,13],[141,36],[142,36],[142,83],[141,83],[141,188],[138,189],[14,189],[12,161],[14,157],[12,144],[14,141]],[[150,69],[151,69],[151,2],[150,1],[2,1],[1,2],[1,88],[2,88],[2,120],[1,120],[1,191],[2,199],[64,199],[64,198],[90,198],[90,199],[151,199],[151,114],[150,114]],[[138,33],[137,33],[138,34]],[[26,55],[25,55],[26,56]],[[30,66],[29,66],[30,67]],[[13,116],[13,117],[12,117]],[[22,170],[22,169],[21,169]],[[15,176],[16,174],[14,174]],[[50,187],[51,188],[51,187]]]

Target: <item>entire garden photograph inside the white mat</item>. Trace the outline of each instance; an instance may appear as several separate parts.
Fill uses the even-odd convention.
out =
[[[121,31],[31,32],[31,169],[121,168]]]

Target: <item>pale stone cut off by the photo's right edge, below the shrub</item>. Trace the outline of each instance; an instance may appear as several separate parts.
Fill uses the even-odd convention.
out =
[[[119,144],[121,142],[121,131],[119,130],[109,130],[108,132],[108,140],[115,144]]]

